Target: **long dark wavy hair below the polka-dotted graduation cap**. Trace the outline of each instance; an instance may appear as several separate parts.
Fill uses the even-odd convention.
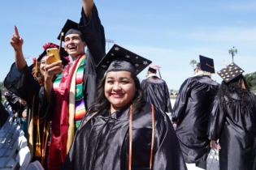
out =
[[[238,76],[229,83],[225,83],[224,81],[221,83],[217,96],[219,96],[223,108],[226,107],[226,104],[234,104],[232,98],[232,94],[234,93],[236,93],[240,99],[239,102],[243,108],[253,104],[251,92],[249,91],[248,84],[243,75]],[[228,100],[226,100],[224,96],[226,96]]]

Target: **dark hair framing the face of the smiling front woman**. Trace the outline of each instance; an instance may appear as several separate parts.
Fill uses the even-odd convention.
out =
[[[142,106],[145,104],[145,100],[143,97],[143,91],[141,90],[141,83],[137,78],[137,75],[131,72],[131,76],[135,83],[136,92],[130,104],[133,104],[134,112],[137,112],[141,110]],[[97,97],[92,107],[89,108],[89,113],[101,113],[105,109],[110,109],[111,103],[106,99],[104,92],[105,82],[106,75],[103,77],[103,79],[100,80],[98,84]]]

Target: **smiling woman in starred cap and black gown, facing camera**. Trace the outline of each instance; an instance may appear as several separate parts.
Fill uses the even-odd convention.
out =
[[[171,121],[145,103],[137,74],[150,61],[114,45],[98,98],[72,143],[63,169],[186,169]]]

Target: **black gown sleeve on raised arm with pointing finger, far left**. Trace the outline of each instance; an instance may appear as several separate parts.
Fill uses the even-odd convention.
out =
[[[33,95],[40,90],[40,85],[33,78],[28,66],[25,66],[23,70],[18,70],[15,63],[11,65],[11,70],[4,79],[4,86],[26,100],[28,104],[32,104]]]

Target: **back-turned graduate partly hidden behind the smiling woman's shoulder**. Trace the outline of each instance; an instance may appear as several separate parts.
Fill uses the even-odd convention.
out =
[[[156,74],[159,66],[150,65],[147,78],[141,82],[144,90],[145,100],[163,110],[164,113],[171,113],[171,101],[167,83]]]

